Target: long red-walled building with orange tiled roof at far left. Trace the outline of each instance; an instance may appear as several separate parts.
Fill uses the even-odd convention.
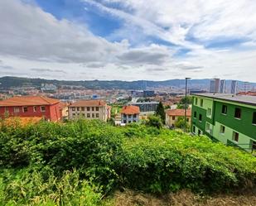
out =
[[[0,116],[41,117],[47,121],[60,121],[60,101],[42,96],[17,96],[0,101]]]

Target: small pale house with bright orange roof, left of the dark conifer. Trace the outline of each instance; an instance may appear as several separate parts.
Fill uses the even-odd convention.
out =
[[[132,122],[138,122],[139,120],[139,108],[133,105],[124,106],[121,111],[121,123],[127,124]]]

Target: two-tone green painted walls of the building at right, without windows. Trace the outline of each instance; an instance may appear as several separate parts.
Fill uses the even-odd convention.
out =
[[[197,105],[196,103],[197,98]],[[200,107],[200,99],[203,100],[203,106]],[[227,114],[222,114],[222,105],[225,104],[228,108]],[[212,111],[211,116],[207,117],[207,109]],[[234,118],[235,108],[241,108],[241,118]],[[196,112],[196,118],[194,117]],[[221,141],[228,145],[239,146],[244,150],[250,151],[252,141],[256,141],[256,126],[253,125],[253,113],[256,112],[256,107],[242,103],[233,103],[213,98],[204,98],[193,96],[191,131],[193,126],[196,126],[196,134],[198,129],[203,134],[210,137],[213,141]],[[202,114],[202,121],[199,121],[199,114]],[[212,133],[206,132],[206,123],[210,124]],[[220,133],[220,125],[225,126],[225,134]],[[233,132],[239,133],[239,142],[233,140]]]

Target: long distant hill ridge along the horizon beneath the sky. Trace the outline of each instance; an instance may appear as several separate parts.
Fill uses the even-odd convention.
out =
[[[0,88],[10,89],[11,87],[22,86],[36,86],[40,87],[41,84],[56,84],[56,86],[73,85],[83,86],[86,89],[144,89],[147,85],[148,88],[160,88],[160,87],[179,87],[184,88],[184,79],[170,79],[165,81],[119,81],[119,80],[85,80],[85,81],[65,81],[65,80],[49,80],[49,79],[31,79],[5,76],[0,78]],[[210,79],[191,79],[189,81],[190,87],[193,88],[209,88]],[[227,85],[230,84],[230,80],[227,80]],[[239,82],[242,84],[242,82]],[[256,87],[256,84],[253,84]]]

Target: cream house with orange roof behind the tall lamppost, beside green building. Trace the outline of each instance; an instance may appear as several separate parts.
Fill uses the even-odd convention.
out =
[[[185,109],[167,109],[166,111],[166,125],[168,127],[175,127],[176,121],[179,117],[185,117]],[[186,122],[190,125],[191,109],[186,110]]]

